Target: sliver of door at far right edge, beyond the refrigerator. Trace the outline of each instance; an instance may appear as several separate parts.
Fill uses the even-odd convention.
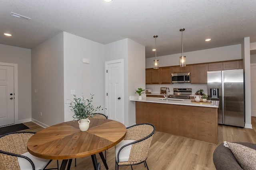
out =
[[[251,64],[251,111],[256,117],[256,64]]]

